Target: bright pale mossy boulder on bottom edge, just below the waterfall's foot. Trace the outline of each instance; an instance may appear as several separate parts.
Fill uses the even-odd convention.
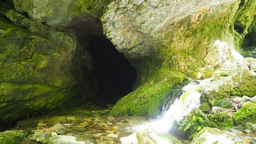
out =
[[[137,132],[138,144],[182,144],[174,136],[150,128]]]

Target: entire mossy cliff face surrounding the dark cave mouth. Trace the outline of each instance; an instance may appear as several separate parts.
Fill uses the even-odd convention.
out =
[[[111,114],[156,116],[185,76],[211,76],[233,49],[255,46],[255,8],[254,0],[2,0],[0,122],[125,95],[136,75]]]

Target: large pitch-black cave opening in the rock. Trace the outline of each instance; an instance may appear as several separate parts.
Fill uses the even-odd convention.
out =
[[[93,59],[93,74],[98,82],[98,104],[115,103],[132,91],[137,74],[132,64],[105,36],[84,37]]]

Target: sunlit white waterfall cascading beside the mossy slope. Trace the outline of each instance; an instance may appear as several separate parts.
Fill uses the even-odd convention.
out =
[[[191,82],[187,86],[184,86],[182,90],[184,91],[183,94],[180,98],[176,98],[168,110],[162,114],[162,117],[155,122],[149,123],[150,128],[168,132],[174,120],[181,120],[192,109],[200,106],[200,84]]]

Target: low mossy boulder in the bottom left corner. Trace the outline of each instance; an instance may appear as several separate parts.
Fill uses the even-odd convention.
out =
[[[0,132],[1,144],[20,144],[26,138],[28,132],[22,130]]]

